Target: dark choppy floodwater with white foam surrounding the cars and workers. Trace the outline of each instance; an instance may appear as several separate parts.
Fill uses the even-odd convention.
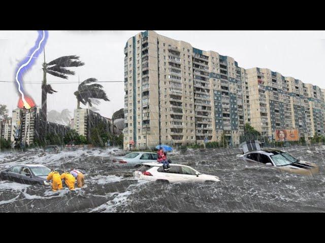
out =
[[[282,173],[274,167],[236,157],[239,149],[175,151],[173,163],[218,176],[209,184],[146,182],[134,168],[112,164],[122,150],[41,150],[1,153],[0,170],[16,164],[85,172],[86,186],[52,192],[48,186],[0,181],[0,212],[325,212],[325,146],[285,149],[319,166],[319,174]]]

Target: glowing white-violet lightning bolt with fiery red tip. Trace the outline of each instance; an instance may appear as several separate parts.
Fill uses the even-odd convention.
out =
[[[36,41],[36,45],[35,45],[34,48],[36,48],[36,47],[37,47],[37,48],[36,48],[34,51],[33,51],[34,48],[31,49],[32,53],[31,53],[29,56],[26,56],[26,57],[29,57],[29,59],[28,59],[27,61],[25,61],[25,62],[24,62],[24,60],[23,60],[22,62],[24,62],[24,63],[23,63],[23,64],[21,64],[21,63],[19,64],[20,67],[18,68],[18,70],[17,70],[17,72],[16,72],[16,82],[17,82],[17,85],[18,85],[18,91],[19,91],[19,93],[21,94],[21,99],[22,99],[22,101],[23,101],[24,106],[25,106],[26,109],[30,109],[31,107],[30,107],[30,105],[28,104],[28,102],[26,102],[26,100],[25,100],[25,96],[24,96],[24,92],[22,91],[22,84],[21,84],[21,80],[20,80],[20,79],[22,79],[22,75],[20,74],[20,71],[21,71],[22,68],[24,68],[24,67],[27,67],[27,69],[28,69],[28,65],[29,65],[29,64],[30,64],[29,67],[31,67],[31,65],[33,64],[32,59],[33,59],[33,58],[36,59],[37,56],[42,52],[41,46],[42,46],[42,44],[43,44],[43,47],[44,47],[45,42],[46,42],[46,39],[47,39],[46,31],[45,31],[45,30],[39,31],[39,34],[42,34],[42,37],[41,37],[40,40],[39,40],[39,38],[38,38],[37,41]],[[40,37],[40,36],[39,36],[39,37]],[[37,42],[38,42],[38,43],[37,43]],[[37,53],[40,49],[41,49],[41,52]],[[34,56],[35,56],[35,57],[34,57]]]

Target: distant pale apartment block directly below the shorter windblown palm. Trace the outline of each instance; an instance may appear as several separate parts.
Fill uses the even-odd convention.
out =
[[[111,124],[109,118],[103,117],[101,114],[90,109],[75,109],[74,110],[74,130],[79,135],[90,139],[91,128],[104,124],[106,131],[109,133]]]

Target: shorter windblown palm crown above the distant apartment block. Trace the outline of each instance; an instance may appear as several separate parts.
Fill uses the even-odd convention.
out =
[[[105,91],[103,90],[103,86],[100,84],[91,84],[97,82],[96,78],[88,78],[84,80],[79,86],[78,90],[74,93],[77,98],[77,109],[80,109],[80,102],[84,105],[88,103],[90,107],[92,107],[93,100],[92,99],[102,99],[105,101],[110,101]]]

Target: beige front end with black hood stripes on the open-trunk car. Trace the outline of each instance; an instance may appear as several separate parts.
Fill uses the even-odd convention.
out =
[[[304,160],[300,160],[297,163],[288,165],[288,166],[282,166],[277,167],[281,171],[286,171],[290,173],[295,173],[299,175],[314,175],[319,172],[319,168],[315,163],[310,163]]]

